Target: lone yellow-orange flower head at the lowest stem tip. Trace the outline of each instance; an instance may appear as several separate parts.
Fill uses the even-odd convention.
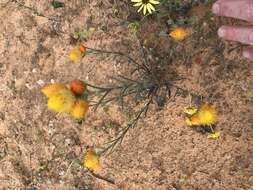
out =
[[[97,171],[101,168],[99,155],[94,151],[94,149],[89,149],[86,152],[84,166],[91,171]]]

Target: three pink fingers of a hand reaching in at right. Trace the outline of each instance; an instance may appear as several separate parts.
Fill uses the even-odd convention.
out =
[[[218,16],[242,19],[253,24],[253,0],[218,0],[212,10]],[[253,26],[222,26],[218,35],[225,40],[253,45]],[[253,47],[244,49],[243,56],[253,61]]]

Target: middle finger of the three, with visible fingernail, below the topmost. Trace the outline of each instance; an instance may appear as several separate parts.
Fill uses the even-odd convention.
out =
[[[222,26],[218,30],[218,35],[225,40],[253,45],[253,27]]]

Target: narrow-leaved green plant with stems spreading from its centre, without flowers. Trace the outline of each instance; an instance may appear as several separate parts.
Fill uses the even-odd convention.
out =
[[[141,46],[140,49],[142,48]],[[133,113],[134,116],[131,117],[126,126],[119,130],[114,139],[106,143],[102,150],[100,150],[99,155],[112,153],[122,143],[127,132],[137,126],[140,118],[147,116],[152,104],[156,103],[162,107],[166,101],[173,101],[178,95],[185,96],[190,94],[191,96],[199,97],[197,94],[175,85],[176,81],[183,79],[174,73],[171,76],[165,77],[164,69],[160,68],[161,65],[155,60],[147,59],[148,55],[146,55],[144,49],[142,49],[143,57],[140,62],[122,52],[90,47],[85,47],[85,49],[87,49],[87,55],[120,56],[122,59],[132,63],[130,67],[132,70],[131,77],[123,75],[113,76],[111,77],[112,84],[104,86],[86,83],[89,89],[90,106],[93,111],[96,111],[99,107],[109,106],[112,103],[120,105],[122,110],[129,104],[139,105],[137,106],[137,111]],[[170,74],[168,73],[168,75]],[[165,92],[163,98],[161,98],[161,91]]]

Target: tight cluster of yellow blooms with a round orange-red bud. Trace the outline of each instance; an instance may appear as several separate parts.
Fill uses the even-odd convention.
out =
[[[48,98],[48,109],[57,113],[69,113],[76,119],[84,119],[89,109],[88,101],[83,94],[87,90],[81,80],[74,80],[69,87],[55,83],[44,87],[41,91]]]

